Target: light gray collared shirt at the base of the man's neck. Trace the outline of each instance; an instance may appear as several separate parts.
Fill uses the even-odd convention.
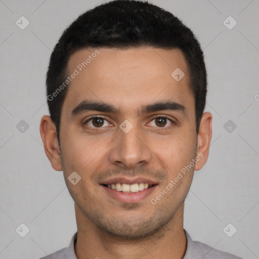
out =
[[[186,231],[185,235],[187,238],[187,249],[183,259],[242,259],[233,254],[214,249],[201,242],[193,241]],[[74,252],[76,239],[77,232],[73,235],[67,248],[63,248],[40,259],[77,259]]]

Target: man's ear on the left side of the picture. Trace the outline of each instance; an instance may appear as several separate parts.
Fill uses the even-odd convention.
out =
[[[45,153],[49,158],[52,167],[57,171],[61,171],[62,165],[56,125],[50,116],[45,115],[41,118],[39,131],[44,144]]]

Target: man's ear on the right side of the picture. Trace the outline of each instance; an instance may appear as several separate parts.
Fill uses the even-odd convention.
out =
[[[199,133],[197,137],[197,159],[195,170],[200,170],[208,159],[209,145],[212,135],[212,114],[204,112],[201,117]]]

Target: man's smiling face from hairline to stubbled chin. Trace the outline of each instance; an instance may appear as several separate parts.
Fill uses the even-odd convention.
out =
[[[178,49],[98,51],[80,50],[69,60],[67,74],[76,76],[62,107],[61,150],[53,155],[62,167],[52,165],[63,170],[82,222],[116,236],[149,236],[176,215],[182,219],[195,166],[207,156],[197,141],[187,65]],[[177,68],[181,80],[180,70],[171,75]]]

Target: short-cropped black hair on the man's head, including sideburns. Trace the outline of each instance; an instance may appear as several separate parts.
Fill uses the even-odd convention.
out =
[[[101,47],[180,49],[189,70],[198,133],[207,94],[207,74],[198,40],[170,12],[147,1],[115,0],[81,14],[65,29],[51,54],[46,78],[47,99],[58,140],[61,110],[68,90],[63,87],[61,91],[60,86],[67,79],[69,58],[78,50]]]

